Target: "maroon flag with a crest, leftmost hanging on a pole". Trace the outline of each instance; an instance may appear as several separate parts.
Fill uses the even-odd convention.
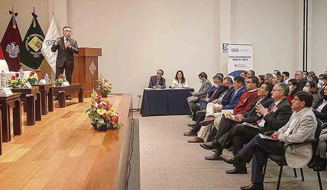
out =
[[[20,53],[21,36],[16,22],[16,16],[18,13],[14,12],[14,9],[9,11],[11,19],[1,40],[0,46],[4,54],[4,58],[7,61],[9,71],[18,71],[20,69]]]

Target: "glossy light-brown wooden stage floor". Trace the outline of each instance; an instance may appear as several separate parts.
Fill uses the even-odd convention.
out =
[[[120,189],[126,180],[131,94],[107,98],[124,124],[121,130],[95,131],[78,98],[66,108],[42,115],[22,135],[3,143],[0,189]],[[123,161],[122,161],[123,160]],[[124,179],[125,178],[125,179]]]

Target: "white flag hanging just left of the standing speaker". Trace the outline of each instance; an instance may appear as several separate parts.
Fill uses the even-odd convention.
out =
[[[59,31],[56,27],[55,17],[52,16],[50,27],[46,32],[43,44],[42,44],[42,55],[48,61],[52,70],[56,73],[56,59],[58,50],[56,52],[51,51],[52,45],[55,43],[56,38],[60,37]]]

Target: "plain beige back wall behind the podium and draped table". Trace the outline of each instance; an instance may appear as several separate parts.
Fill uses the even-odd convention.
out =
[[[218,71],[218,0],[69,0],[68,24],[80,47],[102,48],[99,73],[113,92],[132,92],[134,108],[157,69],[167,86],[183,70],[196,90],[201,71]]]

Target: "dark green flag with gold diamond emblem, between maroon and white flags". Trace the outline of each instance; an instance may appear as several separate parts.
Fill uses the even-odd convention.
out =
[[[22,40],[23,45],[20,47],[20,62],[22,65],[36,70],[40,68],[44,58],[41,52],[44,33],[37,20],[34,7],[32,16],[32,23],[24,37],[24,40]]]

